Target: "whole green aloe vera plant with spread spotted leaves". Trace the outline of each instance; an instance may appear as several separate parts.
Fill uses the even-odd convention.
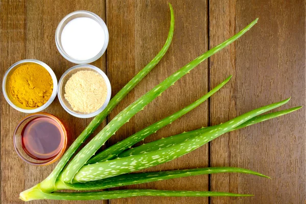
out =
[[[181,157],[196,148],[208,143],[209,141],[219,137],[229,131],[237,130],[242,127],[255,124],[267,119],[278,117],[289,112],[293,112],[300,107],[260,115],[264,112],[277,108],[286,104],[289,98],[278,103],[274,103],[262,108],[252,110],[230,121],[224,122],[212,127],[205,127],[195,131],[182,133],[180,135],[171,136],[169,138],[157,140],[147,143],[140,147],[130,148],[135,143],[143,140],[150,134],[158,131],[163,126],[171,123],[175,119],[188,113],[205,101],[212,94],[217,92],[225,83],[230,80],[227,78],[224,82],[211,90],[208,94],[202,96],[193,104],[184,109],[146,127],[144,130],[130,136],[129,138],[119,142],[118,144],[102,151],[94,156],[96,151],[104,145],[115,132],[131,117],[141,111],[154,98],[161,95],[163,91],[172,86],[177,80],[181,79],[185,74],[189,73],[199,63],[219,52],[222,48],[233,43],[244,33],[246,33],[257,20],[252,21],[246,28],[234,35],[232,38],[224,41],[208,52],[200,55],[181,69],[174,72],[170,77],[162,83],[148,91],[146,94],[137,99],[130,106],[121,111],[115,118],[110,121],[106,127],[100,131],[80,152],[72,156],[86,138],[96,129],[96,127],[104,120],[111,110],[123,99],[123,97],[138,84],[145,75],[161,60],[165,55],[174,30],[174,14],[170,6],[170,29],[167,41],[160,53],[146,65],[129,83],[127,83],[110,101],[108,107],[97,115],[81,135],[75,140],[64,154],[53,172],[41,183],[20,193],[20,198],[24,201],[35,199],[60,199],[60,200],[92,200],[92,199],[113,199],[121,197],[133,196],[250,196],[247,194],[235,194],[225,192],[210,191],[163,191],[151,189],[135,189],[135,190],[115,190],[102,192],[56,192],[57,190],[99,190],[105,188],[126,186],[131,184],[140,184],[154,181],[162,181],[174,179],[178,177],[202,175],[221,172],[239,172],[248,173],[267,177],[258,172],[235,167],[209,167],[199,169],[174,170],[162,172],[147,173],[131,173],[140,169],[148,168],[158,164],[171,161],[177,157]],[[127,150],[126,150],[127,149]],[[118,157],[117,157],[118,156]],[[70,160],[69,164],[68,161]]]

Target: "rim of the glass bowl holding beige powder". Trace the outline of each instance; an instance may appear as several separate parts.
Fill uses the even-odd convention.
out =
[[[106,86],[107,86],[107,96],[106,96],[106,99],[104,101],[104,104],[98,109],[96,110],[95,112],[92,112],[92,113],[87,113],[87,114],[79,114],[77,112],[74,112],[73,110],[69,109],[65,103],[64,103],[64,99],[62,98],[62,86],[63,86],[63,79],[66,77],[66,75],[74,70],[74,69],[82,69],[82,68],[85,68],[85,69],[93,69],[94,71],[98,72],[104,79],[105,83],[106,83]],[[63,87],[65,88],[65,87]],[[112,88],[111,88],[111,83],[107,77],[107,75],[101,70],[99,69],[98,67],[96,66],[93,66],[93,65],[90,65],[90,64],[80,64],[80,65],[75,65],[71,68],[69,68],[67,71],[65,71],[65,73],[63,73],[60,81],[59,81],[59,85],[58,85],[58,98],[59,98],[59,101],[60,101],[60,104],[62,105],[62,107],[64,108],[64,110],[69,113],[70,115],[73,115],[74,117],[78,117],[78,118],[91,118],[91,117],[94,117],[96,115],[98,115],[99,113],[101,113],[106,107],[107,105],[109,104],[109,101],[111,99],[111,94],[112,94]]]

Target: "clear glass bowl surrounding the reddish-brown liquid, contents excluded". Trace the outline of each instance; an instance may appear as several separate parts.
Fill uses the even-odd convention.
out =
[[[38,160],[38,159],[34,159],[33,157],[30,157],[29,154],[26,152],[26,150],[24,150],[24,148],[22,147],[23,143],[22,143],[21,134],[22,134],[22,130],[23,130],[24,126],[28,125],[29,122],[32,121],[33,119],[39,118],[39,117],[46,117],[46,118],[52,119],[62,133],[60,145],[57,148],[57,151],[58,151],[57,154],[55,156],[53,156],[52,158],[48,158],[48,159],[45,159],[45,160],[42,160],[42,159]],[[54,115],[51,115],[51,114],[48,114],[48,113],[34,113],[34,114],[30,114],[27,117],[23,118],[18,123],[18,125],[16,126],[16,129],[14,131],[13,142],[14,142],[14,147],[15,147],[15,150],[17,152],[17,155],[24,162],[27,162],[29,164],[36,165],[36,166],[45,166],[45,165],[54,163],[64,154],[64,151],[65,151],[66,146],[67,146],[67,132],[66,132],[66,129],[65,129],[63,123],[57,117],[55,117]]]

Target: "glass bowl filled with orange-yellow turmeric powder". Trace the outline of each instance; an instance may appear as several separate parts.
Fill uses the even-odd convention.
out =
[[[57,78],[53,70],[39,60],[21,60],[5,73],[2,91],[11,107],[23,113],[47,108],[57,95]]]

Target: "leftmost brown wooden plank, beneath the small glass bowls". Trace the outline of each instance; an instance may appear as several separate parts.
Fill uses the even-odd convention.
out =
[[[1,73],[21,59],[38,59],[48,64],[57,75],[61,75],[73,64],[58,52],[54,35],[60,20],[70,12],[88,10],[106,20],[104,1],[3,1],[1,3],[0,52]],[[106,72],[106,56],[93,65]],[[84,130],[90,119],[75,118],[64,111],[58,99],[45,112],[59,117],[68,131],[68,145]],[[7,116],[10,117],[7,117]],[[36,167],[21,162],[15,153],[12,135],[22,114],[11,108],[1,94],[1,138],[2,138],[2,203],[23,203],[19,193],[41,182],[56,164]],[[104,123],[105,124],[105,123]],[[102,127],[103,125],[101,125]],[[107,203],[108,201],[50,201],[32,203]]]

